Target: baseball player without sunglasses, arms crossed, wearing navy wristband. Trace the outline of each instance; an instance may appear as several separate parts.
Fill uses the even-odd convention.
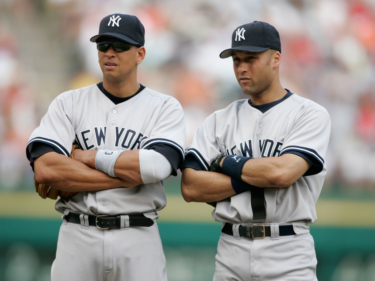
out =
[[[317,280],[309,223],[317,219],[330,117],[322,106],[284,89],[281,42],[272,25],[239,26],[234,74],[249,99],[207,117],[187,146],[181,192],[216,206],[223,223],[213,280]]]

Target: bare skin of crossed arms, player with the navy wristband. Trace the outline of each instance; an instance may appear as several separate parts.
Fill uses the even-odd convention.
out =
[[[304,158],[291,153],[279,157],[254,158],[243,166],[241,179],[258,187],[289,187],[311,165]],[[187,202],[220,201],[236,194],[230,176],[192,168],[182,171],[181,193]]]

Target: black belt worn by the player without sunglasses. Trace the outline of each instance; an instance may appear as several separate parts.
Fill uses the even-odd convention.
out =
[[[239,227],[239,234],[241,237],[248,237],[254,239],[261,239],[266,236],[271,236],[271,227],[264,226],[263,224],[254,224],[252,226],[243,226]],[[233,224],[225,223],[221,229],[222,233],[233,235]],[[279,226],[279,236],[295,235],[296,233],[293,230],[292,225],[288,226]]]

